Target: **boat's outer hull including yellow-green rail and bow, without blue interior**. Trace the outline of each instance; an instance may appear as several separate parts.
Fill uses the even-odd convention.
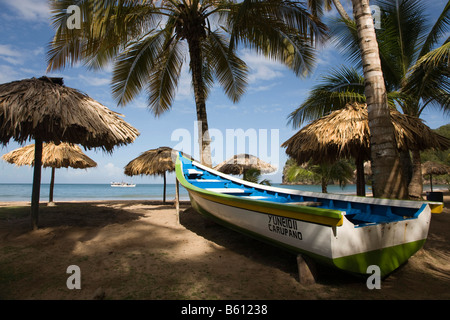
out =
[[[358,226],[347,219],[344,211],[335,222],[318,222],[296,212],[291,205],[196,188],[183,177],[181,166],[177,178],[188,190],[191,205],[208,218],[292,253],[307,255],[317,262],[355,274],[367,275],[368,267],[376,265],[384,277],[404,264],[425,243],[431,219],[430,206],[423,204],[415,218],[396,222]],[[292,212],[288,211],[290,208]]]

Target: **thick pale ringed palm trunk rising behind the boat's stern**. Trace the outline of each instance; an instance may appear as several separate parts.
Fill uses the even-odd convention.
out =
[[[390,120],[369,0],[352,0],[352,4],[365,78],[364,90],[371,133],[373,195],[403,199],[408,196],[408,190]]]

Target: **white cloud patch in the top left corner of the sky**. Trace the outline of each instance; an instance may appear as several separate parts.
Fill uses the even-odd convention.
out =
[[[0,0],[8,6],[19,19],[48,22],[50,7],[47,0]]]

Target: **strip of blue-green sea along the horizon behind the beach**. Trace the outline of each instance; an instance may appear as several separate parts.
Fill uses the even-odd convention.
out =
[[[321,192],[320,185],[283,185],[272,184],[273,187],[294,190]],[[55,184],[53,201],[92,201],[92,200],[162,200],[163,184],[136,184],[135,187],[111,187],[110,184]],[[31,201],[32,184],[28,183],[0,183],[0,202],[4,201]],[[48,201],[50,185],[41,184],[40,201]],[[429,191],[424,186],[424,191]],[[436,185],[433,190],[448,190],[448,186]],[[366,186],[366,193],[371,193],[370,186]],[[347,185],[344,188],[338,185],[329,185],[328,193],[356,194],[356,185]],[[175,184],[167,184],[166,200],[175,199]],[[180,185],[180,200],[189,200],[185,188]]]

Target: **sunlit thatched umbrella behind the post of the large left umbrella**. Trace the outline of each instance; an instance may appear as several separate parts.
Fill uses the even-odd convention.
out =
[[[34,144],[4,154],[2,159],[17,166],[34,166]],[[59,145],[44,143],[42,148],[42,166],[52,168],[50,179],[49,204],[53,203],[56,168],[86,169],[96,167],[97,163],[83,153],[77,145],[62,142]]]

